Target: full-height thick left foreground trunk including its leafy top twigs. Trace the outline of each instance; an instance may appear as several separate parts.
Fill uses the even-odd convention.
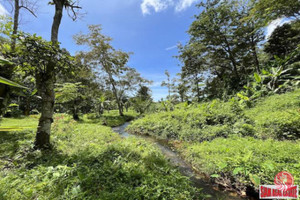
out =
[[[61,54],[59,52],[58,46],[58,31],[61,23],[61,19],[63,16],[63,9],[71,10],[73,15],[73,19],[76,19],[76,12],[74,9],[79,9],[79,6],[75,5],[76,2],[72,0],[53,0],[50,1],[50,4],[55,6],[55,14],[52,23],[51,29],[51,45],[53,47],[48,47],[51,52]],[[44,55],[44,54],[42,54]],[[53,55],[53,57],[58,57],[57,55]],[[45,59],[45,57],[43,57]],[[61,57],[58,57],[60,60]],[[51,124],[53,122],[53,113],[54,113],[54,103],[55,103],[55,92],[54,92],[54,84],[55,84],[55,74],[56,67],[58,61],[57,59],[45,60],[46,66],[42,73],[39,73],[36,77],[37,79],[37,88],[40,96],[42,97],[42,105],[41,105],[41,117],[39,119],[39,125],[35,138],[35,147],[38,149],[45,149],[50,147],[50,134],[51,134]]]

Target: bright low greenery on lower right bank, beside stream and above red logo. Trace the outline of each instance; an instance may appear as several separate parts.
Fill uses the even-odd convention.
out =
[[[234,136],[177,147],[198,171],[240,191],[249,186],[258,189],[259,184],[273,185],[281,171],[290,172],[295,185],[300,184],[300,141]]]

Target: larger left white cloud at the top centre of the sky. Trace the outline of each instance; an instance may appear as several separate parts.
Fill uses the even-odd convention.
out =
[[[144,15],[150,14],[150,9],[161,12],[173,4],[172,0],[143,0],[141,9]]]

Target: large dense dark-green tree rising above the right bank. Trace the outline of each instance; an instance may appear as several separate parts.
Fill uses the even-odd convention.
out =
[[[182,76],[190,80],[202,95],[200,83],[205,81],[206,96],[235,94],[247,83],[254,71],[260,72],[258,44],[263,39],[256,23],[249,19],[253,3],[237,0],[207,0],[198,5],[201,13],[189,29],[190,40],[180,46]]]

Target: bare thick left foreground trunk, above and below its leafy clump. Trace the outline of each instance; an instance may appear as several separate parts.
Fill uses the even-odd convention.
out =
[[[55,14],[51,30],[51,41],[53,45],[57,45],[58,42],[58,30],[63,15],[64,2],[64,0],[54,0]],[[42,97],[41,117],[35,138],[35,147],[39,149],[50,147],[51,124],[53,122],[55,103],[54,83],[55,63],[49,63],[46,66],[46,72],[37,82],[37,88]]]

